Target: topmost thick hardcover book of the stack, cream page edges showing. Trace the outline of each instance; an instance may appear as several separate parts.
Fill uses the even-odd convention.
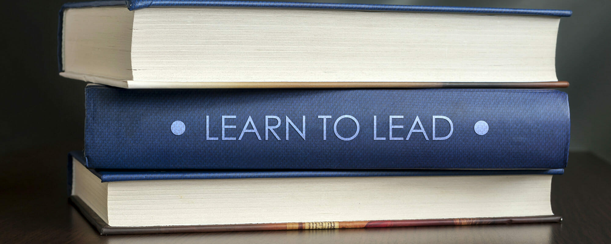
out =
[[[64,4],[59,70],[124,88],[563,87],[568,10],[249,1]]]

